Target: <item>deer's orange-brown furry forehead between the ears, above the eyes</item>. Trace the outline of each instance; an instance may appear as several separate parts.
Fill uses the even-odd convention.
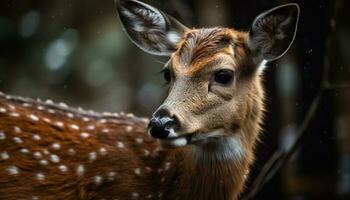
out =
[[[187,74],[233,64],[235,52],[243,42],[243,34],[227,28],[191,30],[183,37],[170,63],[175,71]]]

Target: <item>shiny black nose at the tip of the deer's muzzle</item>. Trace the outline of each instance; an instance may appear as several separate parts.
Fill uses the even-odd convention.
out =
[[[148,125],[148,132],[149,134],[158,139],[164,139],[167,138],[170,129],[174,126],[175,120],[172,117],[169,117],[168,115],[155,115],[151,119]]]

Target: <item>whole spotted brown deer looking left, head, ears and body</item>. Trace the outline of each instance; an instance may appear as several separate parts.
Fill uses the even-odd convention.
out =
[[[237,200],[262,132],[263,73],[292,45],[298,5],[239,31],[115,4],[130,40],[169,58],[163,103],[148,119],[0,93],[0,199]]]

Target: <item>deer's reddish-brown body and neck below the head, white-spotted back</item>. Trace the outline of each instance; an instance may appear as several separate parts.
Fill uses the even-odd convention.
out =
[[[238,140],[165,151],[147,119],[50,101],[1,94],[0,119],[0,199],[230,199],[253,158]]]

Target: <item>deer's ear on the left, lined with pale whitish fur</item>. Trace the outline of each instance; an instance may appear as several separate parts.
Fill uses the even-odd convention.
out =
[[[187,28],[162,11],[136,0],[116,0],[125,32],[142,50],[169,56]]]

